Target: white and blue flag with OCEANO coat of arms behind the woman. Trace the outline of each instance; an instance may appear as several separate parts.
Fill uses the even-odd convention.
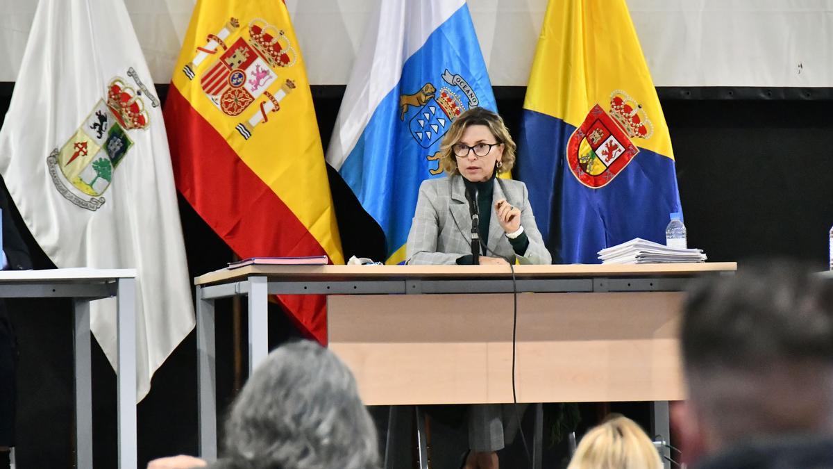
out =
[[[472,106],[496,111],[466,2],[382,2],[353,65],[327,163],[385,232],[387,264],[405,260],[419,186],[441,177],[441,139]]]

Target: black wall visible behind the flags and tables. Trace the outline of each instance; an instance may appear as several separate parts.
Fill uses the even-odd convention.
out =
[[[0,83],[0,115],[7,111],[12,89],[13,83]],[[325,148],[343,90],[313,88]],[[167,86],[158,86],[157,91],[163,99]],[[689,245],[706,250],[715,261],[786,255],[826,268],[827,235],[833,224],[829,90],[661,88],[659,92],[671,129]],[[495,93],[501,114],[517,134],[525,88],[496,88]],[[381,230],[357,209],[337,174],[331,174],[331,185],[347,257],[381,259]],[[231,251],[182,199],[180,211],[190,274],[224,267],[232,259]],[[51,268],[19,215],[13,216],[31,246],[36,268]],[[71,305],[62,300],[12,300],[10,306],[21,352],[18,465],[23,469],[71,466]],[[228,300],[217,307],[218,407],[223,411],[235,386],[232,303]],[[297,334],[280,311],[272,313],[270,322],[272,343]],[[244,324],[243,343],[245,332]],[[150,394],[138,405],[140,466],[153,457],[196,451],[195,349],[192,333],[157,371]],[[242,360],[245,370],[245,356]],[[92,379],[95,464],[114,467],[115,375],[97,345],[93,345]]]

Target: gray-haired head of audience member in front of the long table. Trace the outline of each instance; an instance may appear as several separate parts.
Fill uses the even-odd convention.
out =
[[[257,367],[232,406],[226,448],[240,466],[263,469],[371,469],[379,458],[352,373],[307,340]]]

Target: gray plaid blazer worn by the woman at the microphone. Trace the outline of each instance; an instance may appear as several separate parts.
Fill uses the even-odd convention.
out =
[[[529,247],[524,255],[515,255],[492,209],[489,235],[483,237],[486,241],[486,255],[502,257],[513,264],[516,259],[521,264],[551,264],[550,252],[544,246],[541,232],[532,215],[526,184],[498,178],[491,199],[492,206],[494,202],[506,199],[521,209],[521,226],[529,238]],[[471,254],[471,215],[462,176],[455,174],[422,181],[411,232],[408,233],[406,263],[456,264],[457,258],[467,254]]]

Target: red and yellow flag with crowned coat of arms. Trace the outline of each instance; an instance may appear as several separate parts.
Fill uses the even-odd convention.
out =
[[[177,189],[241,258],[343,264],[301,49],[277,0],[199,0],[165,103]],[[279,296],[326,341],[322,296]]]

